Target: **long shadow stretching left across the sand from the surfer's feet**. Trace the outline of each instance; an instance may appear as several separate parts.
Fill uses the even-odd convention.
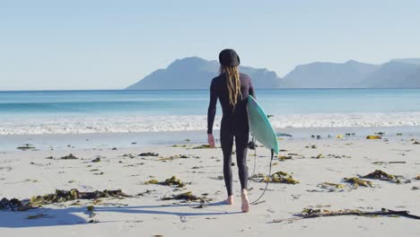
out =
[[[208,206],[222,206],[223,202],[210,203]],[[195,207],[197,204],[179,204],[162,206],[94,206],[93,212],[117,212],[138,215],[179,215],[179,216],[205,216],[205,215],[234,215],[241,212],[225,212],[220,210],[194,209],[196,212],[180,212],[171,210],[156,210],[158,208],[171,207]],[[54,226],[66,224],[88,224],[87,218],[91,212],[88,212],[86,206],[71,206],[66,208],[39,208],[24,212],[0,211],[0,228],[24,228],[36,226]],[[82,216],[86,217],[82,217]],[[31,216],[31,217],[30,217]],[[87,220],[88,219],[88,220]],[[92,218],[95,219],[95,218]],[[100,220],[101,222],[101,220]],[[112,221],[105,221],[112,222]],[[117,222],[117,221],[116,221]],[[119,221],[118,221],[119,222]]]

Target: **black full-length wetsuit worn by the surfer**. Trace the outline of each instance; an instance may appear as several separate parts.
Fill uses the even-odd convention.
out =
[[[241,95],[233,108],[229,102],[226,76],[214,77],[210,85],[210,104],[207,112],[207,134],[213,133],[216,102],[219,99],[223,117],[220,129],[220,141],[223,150],[223,176],[228,195],[232,195],[232,145],[233,137],[236,145],[236,161],[239,169],[241,189],[248,187],[247,148],[249,140],[249,124],[247,102],[249,94],[255,97],[254,88],[248,75],[240,74]]]

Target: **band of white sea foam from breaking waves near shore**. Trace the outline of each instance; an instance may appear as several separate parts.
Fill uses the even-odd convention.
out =
[[[0,135],[130,133],[206,130],[205,115],[182,116],[95,116],[2,118]],[[214,129],[220,128],[216,116]],[[270,121],[283,127],[398,127],[420,126],[420,112],[289,114]]]

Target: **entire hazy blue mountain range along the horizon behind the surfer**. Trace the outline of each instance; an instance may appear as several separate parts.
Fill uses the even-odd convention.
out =
[[[177,59],[127,87],[127,90],[207,89],[219,63],[200,57]],[[266,68],[240,66],[258,89],[276,88],[420,88],[420,58],[391,59],[374,65],[315,62],[296,66],[280,78]]]

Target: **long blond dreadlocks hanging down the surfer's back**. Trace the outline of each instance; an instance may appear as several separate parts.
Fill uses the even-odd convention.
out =
[[[220,66],[220,74],[226,75],[229,103],[235,107],[238,102],[238,95],[242,97],[238,66]]]

